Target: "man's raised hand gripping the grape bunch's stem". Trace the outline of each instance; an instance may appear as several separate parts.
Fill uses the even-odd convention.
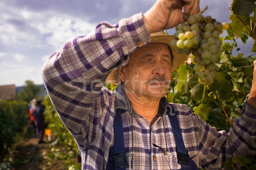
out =
[[[143,15],[148,32],[158,32],[184,23],[182,8],[185,14],[195,14],[200,11],[199,0],[157,0]]]

